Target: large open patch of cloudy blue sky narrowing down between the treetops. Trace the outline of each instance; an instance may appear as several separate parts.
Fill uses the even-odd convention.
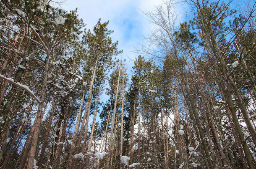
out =
[[[137,53],[134,47],[144,43],[149,35],[148,18],[141,11],[154,10],[161,0],[66,0],[61,7],[65,10],[78,8],[79,18],[84,20],[87,29],[92,29],[99,18],[102,22],[109,20],[108,28],[114,30],[111,37],[119,42],[118,49],[123,50],[128,73]],[[119,56],[120,57],[120,56]]]

